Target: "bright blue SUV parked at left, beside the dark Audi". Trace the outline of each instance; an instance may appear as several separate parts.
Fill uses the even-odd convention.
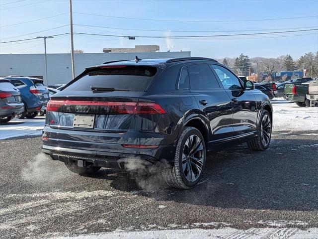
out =
[[[3,77],[8,79],[21,93],[24,103],[24,112],[19,119],[24,117],[32,119],[37,116],[38,111],[45,110],[49,100],[49,92],[43,85],[43,80],[30,77]]]

